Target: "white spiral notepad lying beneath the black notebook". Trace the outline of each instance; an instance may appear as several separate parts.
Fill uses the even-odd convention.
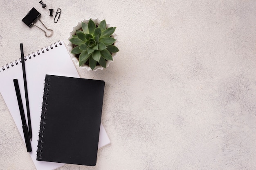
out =
[[[19,47],[19,46],[18,46]],[[17,48],[18,48],[17,47]],[[26,48],[26,46],[24,46]],[[13,120],[25,141],[22,131],[22,122],[18,108],[18,102],[13,85],[13,79],[18,79],[20,85],[20,93],[22,102],[25,106],[25,90],[22,76],[22,64],[17,54],[17,60],[0,67],[0,92],[4,101],[13,117]],[[42,111],[43,87],[46,74],[69,76],[79,78],[79,74],[70,59],[63,41],[58,41],[52,45],[46,46],[39,50],[31,52],[25,56],[27,88],[29,96],[29,109],[32,126],[32,152],[30,153],[32,160],[38,170],[55,169],[63,165],[63,163],[36,161],[36,150],[38,145],[38,135],[40,129],[40,116]],[[26,119],[27,111],[24,109]],[[110,143],[108,135],[101,124],[99,136],[99,148]]]

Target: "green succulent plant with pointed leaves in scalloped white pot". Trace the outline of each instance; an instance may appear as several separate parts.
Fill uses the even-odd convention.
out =
[[[106,68],[106,61],[113,60],[112,53],[119,49],[113,45],[116,39],[111,37],[116,27],[106,28],[106,21],[101,21],[98,25],[93,20],[88,24],[81,23],[81,29],[76,30],[69,41],[75,45],[72,54],[79,54],[79,66],[88,63],[93,70],[96,65]]]

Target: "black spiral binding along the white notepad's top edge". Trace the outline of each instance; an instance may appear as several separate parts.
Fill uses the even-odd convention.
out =
[[[58,41],[58,44],[61,46],[62,45],[61,41]],[[25,59],[25,61],[27,61],[27,59],[32,59],[32,56],[36,57],[36,54],[40,55],[41,53],[49,51],[50,49],[53,49],[54,47],[58,47],[58,44],[55,42],[54,46],[52,46],[52,44],[50,44],[49,46],[46,46],[45,48],[41,48],[40,50],[36,50],[36,52],[32,52],[32,55],[28,54],[27,56],[25,56],[24,59]],[[20,63],[21,63],[21,58],[19,58],[18,60],[20,60]],[[11,67],[13,67],[15,64],[18,65],[18,60],[15,60],[14,62],[11,61],[10,62]],[[9,63],[7,63],[6,65],[2,65],[2,71],[11,68],[10,65],[9,65]],[[0,69],[0,72],[1,72],[1,69]]]

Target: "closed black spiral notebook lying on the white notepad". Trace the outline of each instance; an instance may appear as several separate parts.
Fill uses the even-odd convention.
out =
[[[95,166],[105,82],[45,76],[38,161]]]

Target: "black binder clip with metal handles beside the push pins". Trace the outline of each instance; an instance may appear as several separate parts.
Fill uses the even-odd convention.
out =
[[[29,11],[29,13],[27,13],[27,15],[22,19],[22,22],[24,22],[28,27],[31,27],[32,25],[36,26],[36,25],[34,24],[34,22],[36,22],[36,20],[39,20],[39,21],[43,24],[43,22],[39,19],[40,15],[41,15],[41,14],[33,7],[33,8]],[[50,34],[50,35],[47,35],[46,32],[45,32],[45,30],[43,30],[42,28],[40,28],[40,27],[38,27],[38,26],[36,26],[36,27],[39,28],[40,30],[42,30],[42,31],[45,33],[45,37],[51,37],[51,36],[52,36],[52,33],[53,33],[53,30],[48,29],[48,28],[45,26],[45,24],[43,24],[43,26],[44,26],[47,30],[51,31],[51,34]]]

